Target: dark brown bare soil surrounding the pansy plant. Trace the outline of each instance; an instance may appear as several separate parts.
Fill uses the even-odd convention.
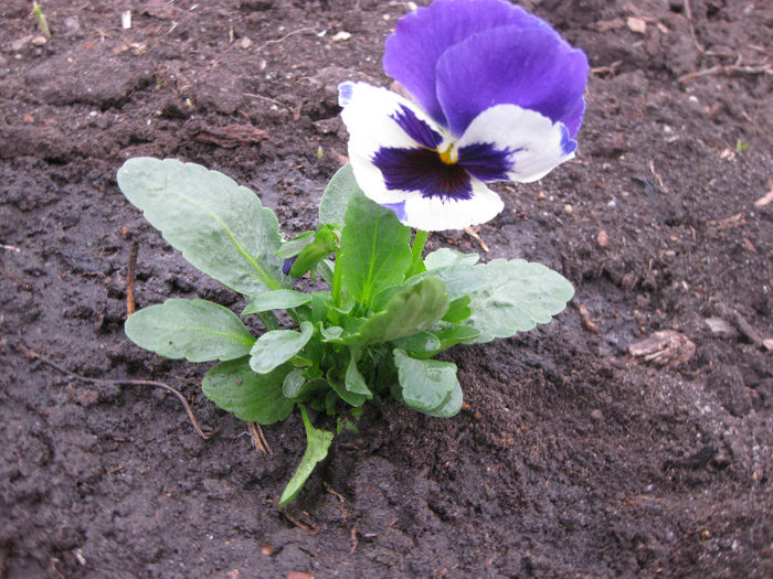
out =
[[[368,406],[285,513],[299,417],[258,453],[201,394],[207,365],[125,337],[133,243],[139,307],[243,302],[115,173],[194,161],[287,235],[313,227],[346,156],[335,87],[389,86],[383,40],[409,3],[41,3],[47,42],[30,2],[0,4],[2,577],[773,576],[771,3],[523,2],[594,67],[579,157],[501,186],[479,239],[430,247],[541,261],[576,296],[549,325],[447,354],[457,417]],[[162,389],[40,356],[165,382],[219,433]]]

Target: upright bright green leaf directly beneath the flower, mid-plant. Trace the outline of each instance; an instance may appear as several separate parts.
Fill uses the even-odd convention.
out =
[[[398,221],[392,210],[363,195],[352,195],[336,264],[336,268],[341,268],[343,289],[370,305],[377,292],[405,277],[411,267],[410,242],[411,229]]]

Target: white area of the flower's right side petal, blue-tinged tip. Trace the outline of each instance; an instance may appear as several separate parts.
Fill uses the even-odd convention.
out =
[[[475,143],[491,143],[496,149],[515,151],[512,181],[531,182],[574,157],[576,143],[566,127],[548,117],[516,105],[496,105],[475,117],[459,139],[459,149]]]

